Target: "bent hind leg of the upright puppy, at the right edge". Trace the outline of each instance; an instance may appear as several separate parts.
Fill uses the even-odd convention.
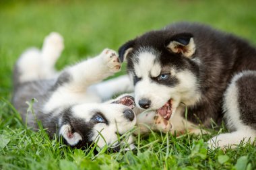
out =
[[[224,95],[227,126],[233,132],[220,134],[208,141],[210,147],[235,147],[256,137],[256,71],[245,71],[232,79]]]

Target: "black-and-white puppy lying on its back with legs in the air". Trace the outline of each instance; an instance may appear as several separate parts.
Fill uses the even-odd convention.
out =
[[[14,68],[13,105],[28,126],[36,129],[40,120],[51,137],[57,133],[70,146],[90,146],[96,142],[100,148],[105,144],[119,148],[119,135],[131,130],[136,122],[133,98],[98,102],[114,92],[126,91],[108,87],[129,79],[121,77],[119,81],[96,84],[120,70],[117,53],[105,49],[98,56],[57,73],[54,66],[63,47],[63,38],[51,33],[42,50],[32,48],[20,56]],[[26,101],[32,98],[38,101],[33,105],[34,113],[27,112]],[[128,135],[127,143],[132,142]]]

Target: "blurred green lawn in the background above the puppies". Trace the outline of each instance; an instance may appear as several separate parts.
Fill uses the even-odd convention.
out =
[[[103,48],[117,50],[143,32],[173,22],[209,24],[256,42],[256,1],[0,1],[0,95],[11,92],[11,69],[23,50],[59,32],[61,69]],[[228,48],[228,44],[227,44]]]

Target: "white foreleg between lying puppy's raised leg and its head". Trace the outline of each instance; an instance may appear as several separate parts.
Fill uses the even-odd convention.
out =
[[[103,101],[106,101],[115,94],[133,91],[133,85],[128,75],[123,75],[92,85],[90,90],[94,91]]]

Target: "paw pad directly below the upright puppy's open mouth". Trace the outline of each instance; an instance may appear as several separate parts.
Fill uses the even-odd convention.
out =
[[[154,125],[153,125],[154,130],[159,130],[160,132],[170,132],[172,130],[172,124],[170,121],[165,120],[162,118],[162,116],[154,116]]]

